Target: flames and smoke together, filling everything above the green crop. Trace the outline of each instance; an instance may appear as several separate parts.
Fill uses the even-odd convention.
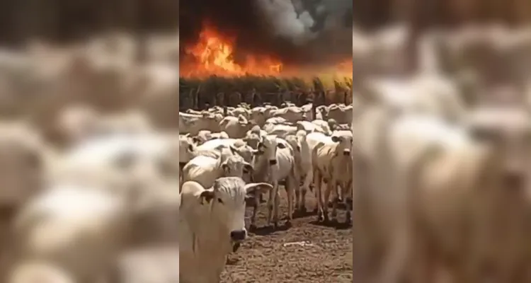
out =
[[[183,2],[181,76],[351,77],[352,21],[345,21],[345,10],[339,12],[334,5],[350,5],[351,10],[352,3],[338,0],[330,6],[328,2]]]

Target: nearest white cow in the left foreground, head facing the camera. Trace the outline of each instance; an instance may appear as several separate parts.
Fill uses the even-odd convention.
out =
[[[179,282],[219,282],[227,255],[247,236],[247,195],[266,192],[268,183],[246,184],[237,177],[219,178],[211,188],[183,184],[179,209]]]

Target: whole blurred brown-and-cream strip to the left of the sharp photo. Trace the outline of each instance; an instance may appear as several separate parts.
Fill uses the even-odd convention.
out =
[[[0,282],[178,282],[179,1],[1,3]]]

